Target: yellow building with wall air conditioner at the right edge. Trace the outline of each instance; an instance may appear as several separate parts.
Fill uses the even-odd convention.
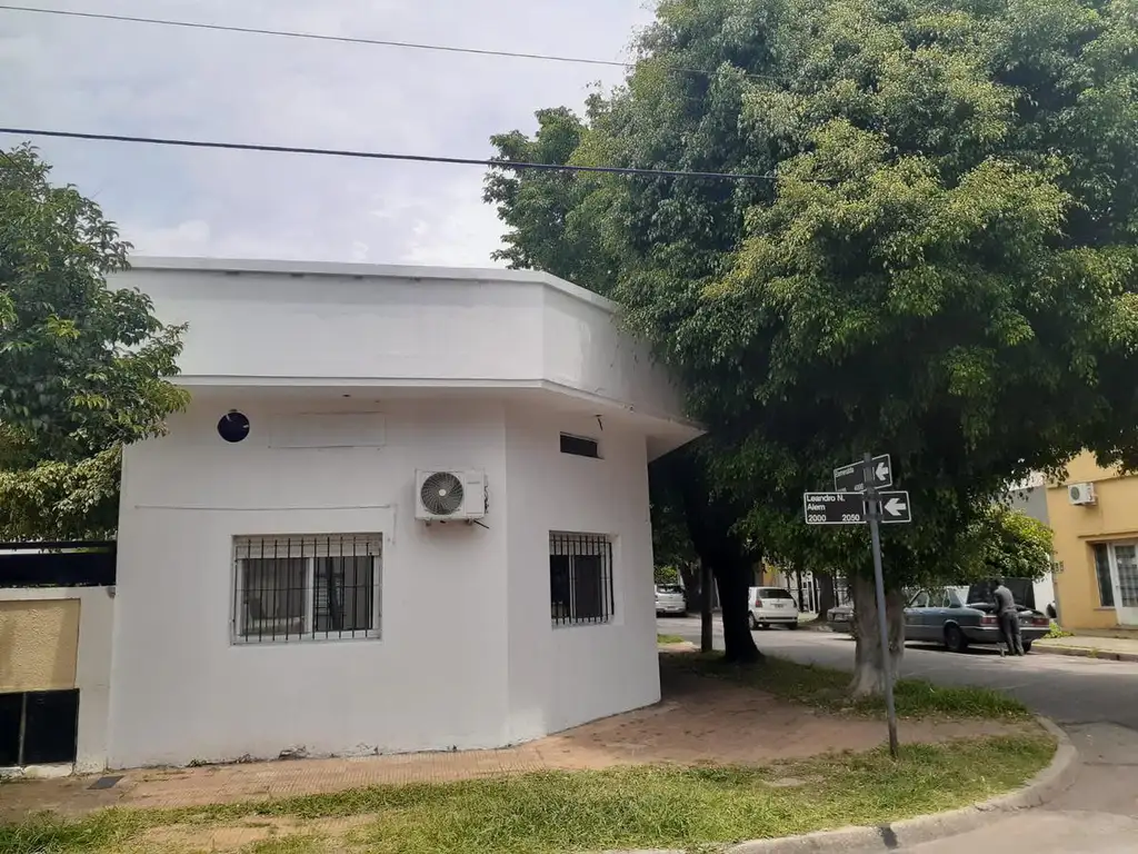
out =
[[[1059,616],[1069,629],[1138,626],[1138,476],[1100,468],[1090,453],[1048,484]]]

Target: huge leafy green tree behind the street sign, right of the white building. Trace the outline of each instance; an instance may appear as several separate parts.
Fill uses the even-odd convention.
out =
[[[867,626],[866,532],[803,533],[801,493],[893,455],[899,657],[901,585],[972,565],[1006,482],[1082,447],[1138,463],[1136,43],[1124,1],[663,0],[568,162],[769,180],[582,175],[554,197],[522,173],[487,197],[514,263],[624,305],[712,428],[745,529],[848,575]],[[558,268],[559,235],[602,273]],[[856,692],[883,656],[861,632]]]

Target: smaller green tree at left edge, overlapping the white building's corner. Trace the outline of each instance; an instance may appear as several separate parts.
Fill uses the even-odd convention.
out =
[[[160,433],[184,393],[181,329],[107,287],[130,245],[98,205],[0,151],[0,539],[108,536],[119,449]]]

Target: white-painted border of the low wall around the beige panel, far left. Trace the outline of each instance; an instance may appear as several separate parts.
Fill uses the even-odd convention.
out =
[[[107,708],[110,699],[112,588],[0,588],[0,601],[79,600],[79,726],[75,772],[88,774],[107,766]],[[34,772],[32,775],[35,775]]]

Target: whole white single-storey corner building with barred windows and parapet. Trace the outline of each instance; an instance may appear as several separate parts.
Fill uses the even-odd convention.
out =
[[[489,748],[655,703],[648,463],[699,435],[536,272],[135,258],[185,323],[123,458],[107,764]]]

